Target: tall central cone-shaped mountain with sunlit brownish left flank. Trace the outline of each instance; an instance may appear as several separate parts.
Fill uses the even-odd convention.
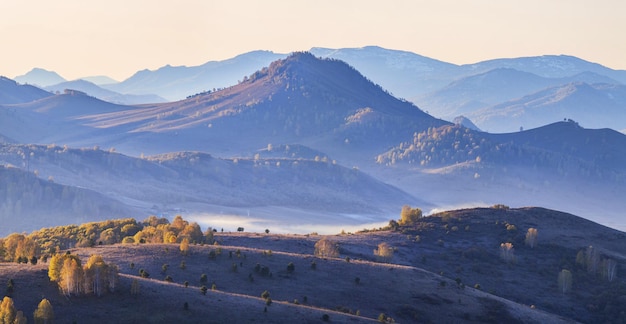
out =
[[[165,135],[176,133],[184,150],[246,152],[269,143],[302,143],[331,155],[357,148],[369,154],[416,130],[447,124],[385,93],[345,63],[308,53],[276,61],[220,91],[89,119],[110,132],[132,127],[148,151],[180,150],[166,146]],[[159,141],[147,143],[150,137]]]

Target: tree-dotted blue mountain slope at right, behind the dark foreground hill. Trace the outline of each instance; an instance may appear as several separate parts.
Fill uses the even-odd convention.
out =
[[[379,155],[371,172],[444,208],[539,205],[625,229],[624,147],[626,135],[574,122],[509,134],[444,126]]]

